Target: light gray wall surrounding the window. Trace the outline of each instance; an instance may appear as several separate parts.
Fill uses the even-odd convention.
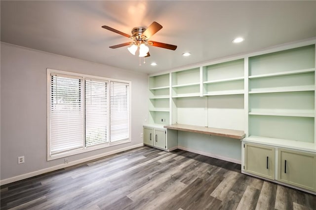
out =
[[[68,158],[69,162],[143,142],[140,138],[140,134],[143,133],[142,124],[144,118],[148,118],[148,76],[146,74],[2,42],[0,47],[1,180],[64,163],[63,158],[47,161],[47,68],[132,82],[132,142],[74,155]],[[25,156],[24,164],[17,164],[18,156]]]

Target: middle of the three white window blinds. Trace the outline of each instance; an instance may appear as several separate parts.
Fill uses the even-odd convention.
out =
[[[85,146],[109,141],[108,82],[85,80]]]

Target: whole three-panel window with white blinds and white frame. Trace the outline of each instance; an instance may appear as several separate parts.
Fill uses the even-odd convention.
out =
[[[130,82],[47,69],[47,159],[130,142]]]

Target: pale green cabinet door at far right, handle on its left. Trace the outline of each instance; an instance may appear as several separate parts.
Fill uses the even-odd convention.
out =
[[[278,150],[279,181],[316,190],[316,154],[295,150]]]

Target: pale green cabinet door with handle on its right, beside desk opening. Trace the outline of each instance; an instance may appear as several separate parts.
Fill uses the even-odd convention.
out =
[[[245,172],[262,177],[275,178],[275,148],[245,143]]]

